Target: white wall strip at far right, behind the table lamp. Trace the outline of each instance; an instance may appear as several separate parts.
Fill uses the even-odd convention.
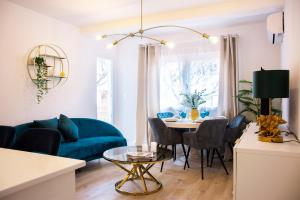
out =
[[[285,33],[282,45],[282,66],[290,70],[290,97],[283,102],[284,118],[300,138],[300,1],[286,0]]]

